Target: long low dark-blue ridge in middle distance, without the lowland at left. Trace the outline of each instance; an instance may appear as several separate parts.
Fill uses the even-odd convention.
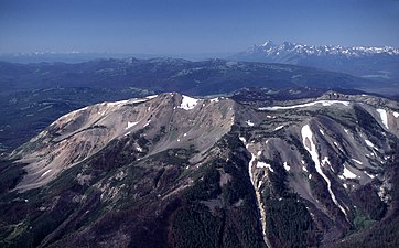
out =
[[[376,89],[376,84],[347,74],[302,66],[175,58],[96,60],[78,64],[0,63],[3,93],[43,88],[139,88],[190,95],[226,94],[242,87],[317,87]]]

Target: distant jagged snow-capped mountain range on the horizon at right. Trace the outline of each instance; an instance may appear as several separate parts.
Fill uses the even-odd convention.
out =
[[[311,66],[393,83],[398,83],[399,79],[399,48],[389,46],[313,46],[291,42],[274,44],[266,41],[230,58]]]

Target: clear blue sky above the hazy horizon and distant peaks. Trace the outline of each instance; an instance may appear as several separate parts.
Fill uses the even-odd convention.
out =
[[[399,0],[0,0],[0,53],[235,53],[265,40],[399,47]]]

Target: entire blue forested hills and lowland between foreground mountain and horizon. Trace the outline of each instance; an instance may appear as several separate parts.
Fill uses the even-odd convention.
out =
[[[228,95],[245,87],[378,91],[384,84],[303,66],[176,58],[95,60],[78,64],[0,62],[0,153],[26,142],[69,111],[165,91]],[[399,94],[390,90],[389,94]]]

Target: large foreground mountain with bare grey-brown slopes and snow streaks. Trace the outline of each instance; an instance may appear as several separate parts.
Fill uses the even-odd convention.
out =
[[[398,103],[270,95],[61,117],[1,161],[1,246],[397,247]]]

